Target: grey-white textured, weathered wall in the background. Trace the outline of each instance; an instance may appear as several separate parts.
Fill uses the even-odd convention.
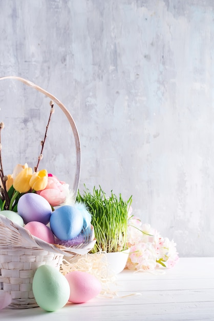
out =
[[[0,12],[0,75],[69,109],[80,189],[132,194],[134,213],[181,256],[213,255],[213,1],[0,0]],[[34,166],[49,99],[5,81],[0,107],[5,172]],[[56,110],[41,167],[72,184],[74,153]]]

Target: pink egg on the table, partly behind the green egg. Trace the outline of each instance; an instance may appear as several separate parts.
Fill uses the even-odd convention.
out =
[[[70,285],[69,302],[84,303],[101,291],[100,281],[92,274],[72,271],[65,275]]]

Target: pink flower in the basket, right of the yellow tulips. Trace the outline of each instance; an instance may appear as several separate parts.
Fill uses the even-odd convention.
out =
[[[65,202],[68,190],[68,184],[60,182],[56,176],[48,174],[48,184],[46,188],[38,191],[37,194],[47,199],[51,206],[58,206]]]

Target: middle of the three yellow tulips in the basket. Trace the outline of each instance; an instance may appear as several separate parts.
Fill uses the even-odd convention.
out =
[[[32,168],[26,167],[22,169],[13,179],[13,187],[19,193],[27,193],[31,186],[29,184],[32,177]]]

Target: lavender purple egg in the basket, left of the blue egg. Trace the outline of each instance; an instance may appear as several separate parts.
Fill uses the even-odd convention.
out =
[[[52,213],[48,201],[36,193],[22,195],[18,200],[17,210],[18,214],[23,217],[25,224],[36,220],[46,225],[49,223]]]

